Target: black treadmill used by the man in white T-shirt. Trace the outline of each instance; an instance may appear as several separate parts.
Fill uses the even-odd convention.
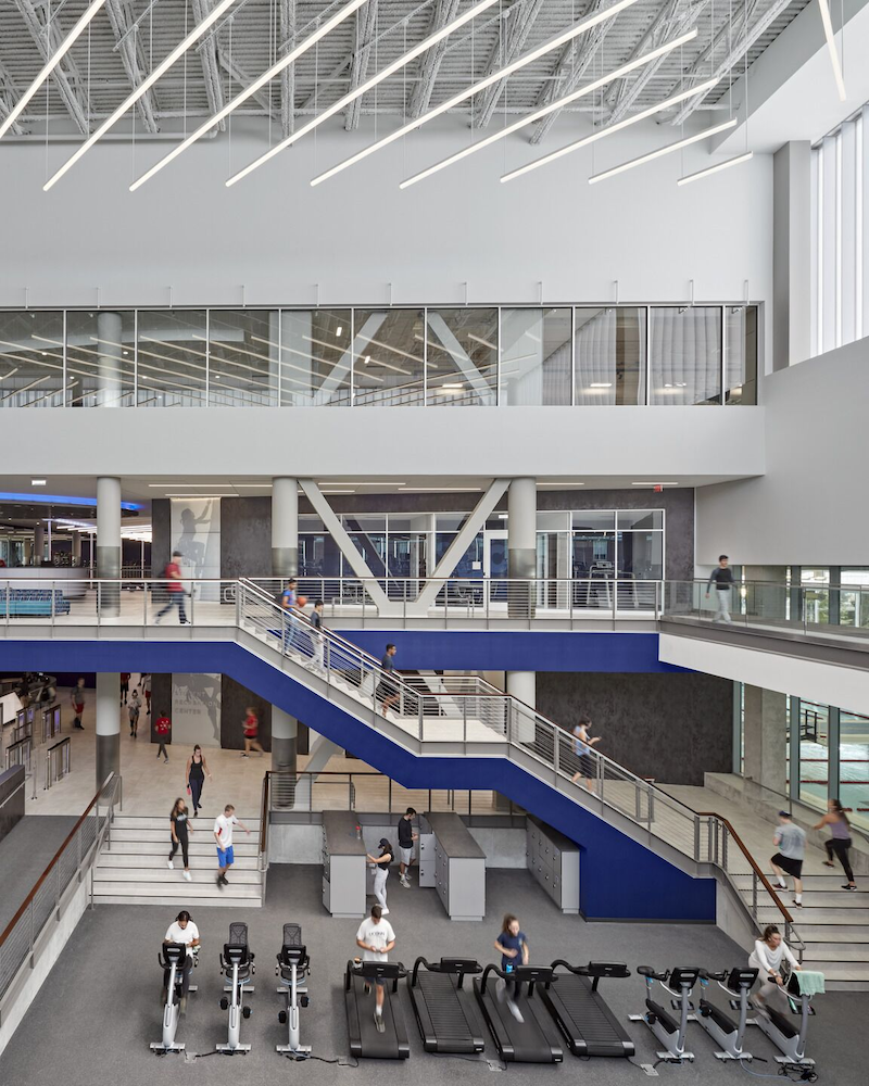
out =
[[[398,996],[399,978],[406,975],[407,970],[400,961],[351,959],[347,963],[344,1002],[351,1056],[366,1060],[406,1060],[411,1055]],[[374,987],[378,978],[392,982],[385,985],[383,1033],[378,1032],[374,1021]],[[369,993],[365,992],[366,984],[370,986]]]

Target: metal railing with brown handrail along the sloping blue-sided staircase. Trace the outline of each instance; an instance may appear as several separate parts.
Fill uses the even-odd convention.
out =
[[[740,893],[753,921],[763,910],[780,915],[791,937],[793,921],[777,894],[760,880],[746,900],[740,876],[758,871],[739,837],[717,815],[701,815],[651,781],[619,766],[536,709],[466,677],[461,691],[425,691],[330,630],[274,602],[260,585],[240,581],[236,599],[242,631],[277,651],[288,671],[308,674],[327,698],[393,740],[419,750],[506,756],[582,806],[612,821],[627,820],[650,846],[668,846],[696,863],[721,870]],[[285,786],[292,786],[285,781]],[[269,803],[274,801],[274,793]],[[288,803],[289,797],[284,796]],[[639,831],[639,833],[638,833]],[[727,836],[725,836],[727,834]],[[735,848],[727,847],[733,841]]]

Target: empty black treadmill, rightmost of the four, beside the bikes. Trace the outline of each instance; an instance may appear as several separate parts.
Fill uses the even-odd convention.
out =
[[[558,969],[567,972],[556,974]],[[599,992],[602,977],[630,976],[628,967],[615,961],[570,965],[559,958],[552,970],[557,983],[544,984],[540,997],[574,1056],[633,1056],[633,1041]]]

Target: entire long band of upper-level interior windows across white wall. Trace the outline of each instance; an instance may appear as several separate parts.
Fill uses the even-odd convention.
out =
[[[756,305],[0,310],[0,407],[754,404]]]

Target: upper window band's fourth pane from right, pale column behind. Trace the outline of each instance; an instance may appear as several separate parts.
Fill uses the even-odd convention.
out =
[[[569,308],[501,311],[501,403],[570,403]]]

